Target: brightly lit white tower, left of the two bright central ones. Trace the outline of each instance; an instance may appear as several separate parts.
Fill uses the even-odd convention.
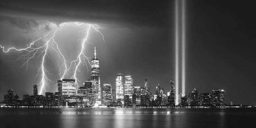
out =
[[[124,104],[123,74],[118,73],[116,78],[116,100]]]

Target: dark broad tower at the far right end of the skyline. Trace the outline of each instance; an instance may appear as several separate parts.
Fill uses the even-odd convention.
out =
[[[224,104],[224,90],[220,90],[220,89],[212,90],[212,102],[213,102],[213,105]]]

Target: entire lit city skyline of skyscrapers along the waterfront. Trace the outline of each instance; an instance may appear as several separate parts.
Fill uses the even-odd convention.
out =
[[[224,90],[215,89],[212,94],[201,93],[193,89],[189,95],[175,96],[174,82],[170,83],[170,90],[166,91],[156,86],[156,93],[152,95],[147,79],[144,87],[133,84],[132,76],[118,73],[116,84],[113,88],[109,83],[100,86],[99,59],[95,57],[91,61],[91,78],[84,82],[83,86],[76,89],[76,81],[73,79],[58,80],[58,92],[46,92],[45,96],[38,95],[37,85],[33,85],[33,95],[23,95],[19,99],[14,90],[8,90],[4,95],[4,103],[11,106],[211,106],[224,104]],[[175,104],[178,97],[178,104]]]

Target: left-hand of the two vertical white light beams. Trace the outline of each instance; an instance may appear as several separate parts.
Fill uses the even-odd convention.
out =
[[[175,1],[175,104],[179,96],[179,0]]]

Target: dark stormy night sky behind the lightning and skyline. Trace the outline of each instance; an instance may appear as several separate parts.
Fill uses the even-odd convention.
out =
[[[186,1],[186,93],[194,88],[199,93],[220,88],[226,91],[227,104],[256,104],[254,5],[253,1]],[[135,85],[143,86],[147,79],[154,94],[157,84],[168,91],[170,81],[175,81],[174,17],[174,1],[1,1],[0,45],[25,48],[59,28],[55,40],[63,54],[74,60],[80,51],[77,39],[85,35],[78,31],[93,24],[100,27],[105,42],[91,30],[89,41],[93,44],[85,45],[84,54],[94,57],[96,45],[101,85],[108,82],[115,87],[120,71],[133,76]],[[46,40],[35,46],[40,43]],[[24,60],[14,63],[21,55],[24,52],[0,52],[0,100],[9,88],[20,97],[31,95],[32,85],[40,82],[41,77],[35,75],[42,56],[31,59],[26,71],[26,67],[20,68]],[[54,52],[48,56],[46,69],[53,74],[48,78],[54,83],[46,91],[55,92],[58,58]],[[82,66],[77,77],[90,79],[90,67],[87,73]]]

